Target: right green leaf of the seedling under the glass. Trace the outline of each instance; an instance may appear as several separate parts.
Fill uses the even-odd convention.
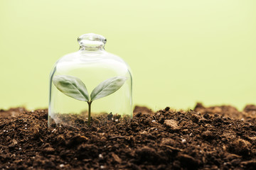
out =
[[[90,95],[91,101],[113,94],[122,87],[126,80],[126,77],[112,77],[102,81],[97,87],[95,87],[95,89],[93,89],[92,94]]]

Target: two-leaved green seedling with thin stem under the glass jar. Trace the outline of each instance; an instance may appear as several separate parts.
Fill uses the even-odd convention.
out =
[[[99,85],[95,87],[95,89],[93,89],[90,96],[88,94],[85,84],[77,77],[67,75],[54,76],[53,84],[63,94],[71,98],[75,98],[79,101],[86,101],[88,103],[87,124],[90,125],[92,101],[113,94],[115,91],[122,87],[126,80],[126,77],[119,76],[102,81]]]

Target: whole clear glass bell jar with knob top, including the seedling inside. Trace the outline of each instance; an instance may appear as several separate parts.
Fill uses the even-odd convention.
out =
[[[90,125],[97,116],[132,118],[132,74],[105,51],[106,38],[88,33],[80,49],[61,57],[50,72],[48,125]],[[116,117],[114,117],[116,116]]]

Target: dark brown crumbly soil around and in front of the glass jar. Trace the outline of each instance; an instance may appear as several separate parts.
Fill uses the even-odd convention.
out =
[[[136,107],[130,122],[97,118],[76,128],[48,128],[47,110],[0,111],[0,169],[255,167],[256,106]]]

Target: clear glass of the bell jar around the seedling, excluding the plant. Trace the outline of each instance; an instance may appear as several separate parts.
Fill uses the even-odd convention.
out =
[[[89,94],[106,79],[126,77],[127,80],[119,90],[92,102],[91,116],[94,118],[102,113],[112,113],[132,118],[132,74],[127,63],[117,55],[105,51],[106,39],[102,35],[81,35],[78,42],[80,50],[61,57],[50,72],[48,125],[51,125],[53,120],[54,123],[65,121],[58,118],[63,114],[79,114],[87,119],[87,103],[70,98],[59,91],[53,84],[55,75],[78,77],[87,87]]]

